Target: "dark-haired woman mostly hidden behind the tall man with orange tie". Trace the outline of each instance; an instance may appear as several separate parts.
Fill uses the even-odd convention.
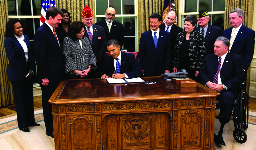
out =
[[[64,38],[68,36],[67,32],[69,31],[70,27],[71,16],[70,13],[65,9],[61,9],[61,11],[63,12],[61,23],[57,28],[55,28],[55,31],[57,32],[61,43],[63,43]]]

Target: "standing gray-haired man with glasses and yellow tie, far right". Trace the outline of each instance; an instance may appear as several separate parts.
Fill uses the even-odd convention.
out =
[[[230,11],[229,20],[232,27],[223,31],[222,36],[230,40],[229,52],[241,55],[244,62],[245,84],[243,89],[246,90],[247,70],[251,64],[254,53],[255,31],[245,27],[242,23],[244,12],[240,8]]]

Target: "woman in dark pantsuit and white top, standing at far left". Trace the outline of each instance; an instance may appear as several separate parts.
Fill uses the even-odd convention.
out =
[[[9,60],[8,81],[13,87],[18,127],[29,132],[28,126],[39,126],[35,123],[33,105],[34,52],[30,48],[28,36],[23,35],[20,20],[9,20],[4,36],[4,48]]]

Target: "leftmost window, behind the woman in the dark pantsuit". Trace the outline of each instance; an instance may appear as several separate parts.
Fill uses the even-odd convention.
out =
[[[31,5],[32,4],[32,5]],[[34,48],[34,34],[40,27],[41,0],[7,0],[10,19],[20,19],[23,23],[23,34],[28,35],[30,47]],[[37,84],[36,72],[33,83]],[[39,85],[38,85],[39,86]],[[35,86],[34,86],[35,87]]]

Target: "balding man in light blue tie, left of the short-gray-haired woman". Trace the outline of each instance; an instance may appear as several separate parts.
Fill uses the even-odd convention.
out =
[[[177,35],[183,31],[181,27],[176,26],[174,23],[177,20],[177,13],[174,10],[170,10],[165,16],[165,23],[162,23],[159,28],[161,30],[170,32],[171,54],[173,53],[175,40]]]

